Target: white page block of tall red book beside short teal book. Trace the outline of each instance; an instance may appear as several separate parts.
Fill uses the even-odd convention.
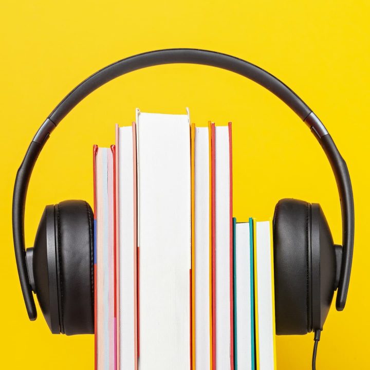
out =
[[[231,215],[229,127],[215,128],[216,365],[231,368]]]

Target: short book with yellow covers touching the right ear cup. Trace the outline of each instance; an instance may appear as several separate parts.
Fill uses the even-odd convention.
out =
[[[257,370],[276,368],[272,221],[253,220]]]

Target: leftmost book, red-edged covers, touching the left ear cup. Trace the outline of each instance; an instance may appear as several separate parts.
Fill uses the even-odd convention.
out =
[[[94,146],[96,368],[115,368],[115,147]]]

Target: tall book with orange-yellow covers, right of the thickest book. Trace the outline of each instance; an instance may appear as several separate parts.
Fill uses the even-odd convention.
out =
[[[212,369],[211,179],[208,127],[191,127],[192,365]]]

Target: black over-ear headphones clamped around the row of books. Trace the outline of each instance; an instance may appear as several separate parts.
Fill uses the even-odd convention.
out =
[[[284,83],[244,60],[198,49],[146,52],[101,69],[73,89],[34,136],[17,172],[13,193],[15,258],[30,320],[36,319],[33,291],[54,334],[94,333],[94,226],[90,206],[81,200],[46,206],[34,247],[25,250],[28,183],[46,140],[73,107],[106,82],[140,68],[170,63],[223,68],[257,82],[285,102],[322,146],[337,181],[343,247],[334,245],[318,204],[283,199],[276,205],[273,218],[276,333],[321,330],[334,291],[338,289],[339,311],[348,292],[355,217],[347,165],[319,118]]]

